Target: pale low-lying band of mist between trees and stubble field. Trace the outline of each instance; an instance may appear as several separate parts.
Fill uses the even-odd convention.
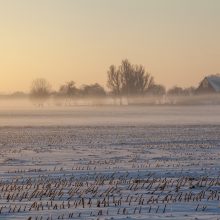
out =
[[[135,101],[137,99],[129,100]],[[113,99],[83,99],[65,105],[64,102],[66,100],[50,100],[39,107],[28,99],[1,99],[0,126],[220,124],[220,105],[208,101],[208,105],[192,105],[191,102],[186,105],[146,105],[142,102],[127,105],[124,99],[122,106]]]

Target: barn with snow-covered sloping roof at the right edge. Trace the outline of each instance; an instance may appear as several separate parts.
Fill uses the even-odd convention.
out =
[[[197,88],[197,93],[220,93],[220,74],[205,77]]]

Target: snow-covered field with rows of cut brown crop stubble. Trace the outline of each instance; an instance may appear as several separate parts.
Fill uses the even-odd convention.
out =
[[[0,219],[220,219],[219,112],[3,109]]]

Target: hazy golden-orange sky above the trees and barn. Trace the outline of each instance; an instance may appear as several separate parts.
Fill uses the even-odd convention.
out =
[[[220,72],[219,0],[0,0],[0,92],[106,87],[127,58],[170,88]]]

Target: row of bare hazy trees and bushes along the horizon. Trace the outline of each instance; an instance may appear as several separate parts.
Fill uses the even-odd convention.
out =
[[[107,88],[98,83],[76,87],[74,81],[61,85],[58,91],[52,91],[50,83],[45,79],[36,79],[32,82],[30,96],[33,98],[54,97],[132,97],[132,96],[163,96],[191,95],[195,88],[183,89],[175,86],[166,91],[165,86],[155,83],[154,77],[142,65],[131,64],[127,59],[122,60],[117,67],[111,65],[107,71]]]

